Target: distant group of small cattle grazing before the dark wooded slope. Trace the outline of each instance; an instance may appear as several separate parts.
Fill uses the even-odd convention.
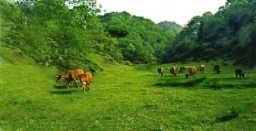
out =
[[[176,73],[178,72],[178,69],[179,69],[179,73],[186,73],[186,69],[188,69],[188,73],[185,74],[185,77],[186,77],[186,79],[189,79],[189,77],[191,77],[191,76],[192,76],[192,78],[195,78],[196,72],[198,72],[198,71],[200,71],[200,73],[204,73],[205,65],[200,65],[198,68],[196,68],[195,66],[180,66],[180,68],[178,68],[176,65],[173,65],[170,68],[171,75],[176,77]],[[161,68],[161,67],[157,68],[157,72],[158,72],[158,75],[164,74],[163,68]],[[221,72],[220,66],[214,65],[213,72],[216,74],[220,74],[220,72]],[[235,70],[235,72],[236,72],[236,77],[237,77],[237,75],[239,75],[240,79],[241,79],[241,76],[244,77],[244,72],[240,68],[237,68]]]

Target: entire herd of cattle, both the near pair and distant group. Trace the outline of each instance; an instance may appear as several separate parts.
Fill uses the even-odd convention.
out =
[[[186,73],[186,70],[188,69],[188,73]],[[192,76],[192,78],[195,78],[196,72],[200,71],[200,73],[204,73],[205,70],[205,66],[204,65],[200,65],[198,68],[196,68],[195,66],[180,66],[179,68],[179,73],[186,73],[185,77],[186,79],[189,79],[189,77]],[[213,66],[213,71],[216,74],[220,74],[220,66],[219,65],[214,65]],[[160,75],[163,75],[163,68],[158,67],[157,68],[157,72]],[[178,72],[178,67],[176,65],[173,65],[170,68],[170,73],[176,77],[176,73]],[[236,69],[236,77],[237,75],[239,75],[240,79],[241,76],[244,77],[244,72],[241,69]],[[79,88],[79,86],[77,85],[76,80],[79,80],[81,83],[81,86],[83,84],[83,92],[84,92],[84,85],[86,85],[86,90],[90,91],[90,84],[92,82],[92,73],[90,72],[84,72],[83,69],[76,69],[76,70],[69,70],[66,74],[64,75],[58,75],[56,76],[57,81],[56,82],[61,82],[61,81],[67,81],[68,82],[68,89],[70,86],[70,82],[74,81],[74,83],[76,84],[77,88]]]

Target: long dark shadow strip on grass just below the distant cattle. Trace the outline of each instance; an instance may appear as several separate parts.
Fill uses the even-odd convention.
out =
[[[172,87],[193,87],[196,86],[196,84],[200,84],[201,82],[205,81],[205,77],[200,79],[193,79],[192,81],[188,82],[159,82],[157,84],[154,84],[154,86],[172,86]]]

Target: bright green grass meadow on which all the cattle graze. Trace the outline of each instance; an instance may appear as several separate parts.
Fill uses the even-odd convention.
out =
[[[0,47],[0,130],[256,130],[256,73],[248,66],[223,59],[186,63],[204,64],[205,73],[185,79],[167,69],[157,74],[157,66],[173,63],[124,66],[95,59],[104,71],[93,73],[92,90],[83,93],[56,83],[56,68]],[[235,68],[246,72],[244,79],[236,79]]]

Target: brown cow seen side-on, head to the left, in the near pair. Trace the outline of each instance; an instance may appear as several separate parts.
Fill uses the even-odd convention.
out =
[[[81,75],[83,73],[84,73],[83,69],[69,70],[65,75],[58,75],[56,82],[68,81],[68,89],[69,89],[70,82],[74,81],[77,88],[79,88],[79,86],[76,83],[76,80],[79,79],[79,75]],[[80,80],[80,82],[81,82],[81,80]],[[81,84],[82,84],[82,82],[81,82]]]

